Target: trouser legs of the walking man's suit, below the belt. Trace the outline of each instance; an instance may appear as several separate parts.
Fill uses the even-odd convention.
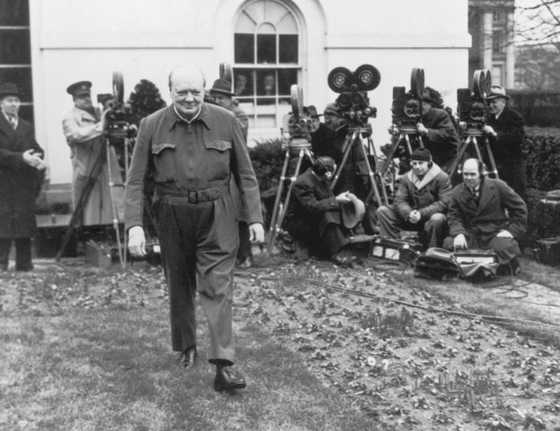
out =
[[[234,362],[233,269],[239,236],[232,198],[197,204],[159,199],[154,213],[169,288],[173,350],[196,344],[198,291],[209,325],[209,360]]]

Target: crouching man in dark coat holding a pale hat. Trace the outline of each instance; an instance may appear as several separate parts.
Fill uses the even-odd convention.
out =
[[[326,255],[334,264],[347,265],[357,257],[347,247],[351,232],[342,221],[340,209],[354,197],[349,192],[335,196],[330,190],[336,167],[332,157],[317,157],[313,166],[297,177],[283,226],[298,247],[314,255]],[[302,253],[302,260],[305,257]]]

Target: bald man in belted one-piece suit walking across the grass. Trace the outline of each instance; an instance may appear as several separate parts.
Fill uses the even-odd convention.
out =
[[[233,176],[251,240],[264,241],[258,183],[235,115],[204,102],[204,75],[193,66],[169,74],[173,104],[140,122],[127,176],[125,228],[133,255],[146,254],[144,182],[155,182],[162,263],[169,288],[172,346],[183,367],[197,358],[196,292],[206,313],[215,390],[244,388],[232,369],[233,269],[239,236]]]

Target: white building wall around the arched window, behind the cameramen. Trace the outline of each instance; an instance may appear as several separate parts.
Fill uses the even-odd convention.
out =
[[[288,3],[288,2],[286,2]],[[153,81],[169,103],[167,75],[195,62],[210,86],[221,62],[233,63],[233,28],[242,0],[30,0],[31,54],[38,142],[46,150],[51,183],[71,181],[62,118],[71,109],[66,87],[91,80],[92,96],[111,92],[113,71],[123,71],[125,98],[141,79]],[[369,93],[378,118],[374,142],[388,142],[393,86],[409,88],[423,68],[426,85],[456,106],[468,86],[467,0],[295,0],[302,24],[304,103],[322,110],[337,94],[327,85],[336,66],[372,64],[381,84]],[[259,139],[271,131],[251,130]],[[274,131],[276,134],[276,131]]]

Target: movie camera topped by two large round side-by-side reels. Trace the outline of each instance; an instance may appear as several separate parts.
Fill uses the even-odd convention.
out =
[[[350,127],[367,125],[369,118],[377,116],[377,108],[370,106],[367,92],[374,90],[381,81],[381,74],[371,64],[362,64],[351,72],[345,67],[335,67],[328,74],[327,83],[335,93],[340,93],[336,103],[337,116],[348,121]]]

